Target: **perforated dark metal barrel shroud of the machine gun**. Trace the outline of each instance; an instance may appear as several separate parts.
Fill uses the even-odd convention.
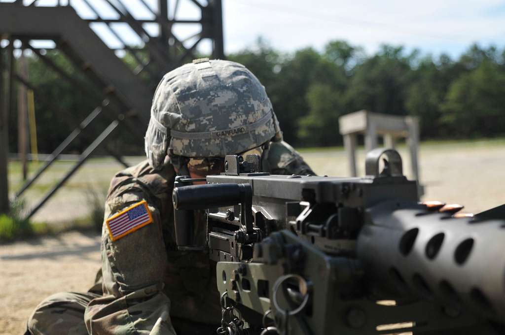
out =
[[[369,208],[366,219],[357,255],[379,294],[410,292],[505,321],[505,220],[398,201]]]

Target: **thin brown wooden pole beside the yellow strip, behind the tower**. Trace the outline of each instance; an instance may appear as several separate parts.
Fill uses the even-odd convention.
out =
[[[19,74],[28,79],[28,69],[26,65],[26,58],[21,57],[19,62]],[[18,84],[18,152],[19,159],[21,161],[21,167],[23,172],[23,180],[26,180],[28,176],[28,165],[27,165],[27,155],[28,155],[28,106],[27,106],[27,94],[25,85]]]

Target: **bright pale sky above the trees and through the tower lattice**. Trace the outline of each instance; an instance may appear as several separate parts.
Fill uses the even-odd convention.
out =
[[[103,17],[114,17],[104,0],[88,1]],[[157,0],[123,0],[123,3],[137,18],[153,17],[142,1],[156,11]],[[206,0],[196,1],[206,4]],[[408,50],[418,48],[424,54],[448,53],[452,57],[474,42],[482,46],[505,46],[503,0],[222,1],[225,53],[254,47],[259,36],[283,52],[307,46],[321,50],[335,39],[362,46],[369,54],[383,43],[404,45]],[[38,3],[51,6],[56,0]],[[82,17],[95,17],[84,0],[70,0],[70,3]],[[176,0],[169,0],[170,13],[174,12],[175,3]],[[199,15],[192,0],[180,0],[177,18],[195,19]],[[110,46],[121,46],[104,24],[95,24],[92,28]],[[156,26],[145,29],[150,34],[157,33]],[[198,32],[199,26],[180,24],[173,29],[179,39],[184,39]],[[127,27],[116,25],[115,30],[129,43],[141,43]],[[189,39],[188,45],[191,41],[194,39]],[[209,42],[201,44],[200,51],[209,49]]]

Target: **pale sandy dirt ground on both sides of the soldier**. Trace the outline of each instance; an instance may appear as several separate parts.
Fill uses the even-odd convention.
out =
[[[409,155],[400,148],[404,172],[410,175]],[[306,160],[316,173],[348,176],[345,152],[307,151]],[[141,158],[131,159],[131,161]],[[363,175],[364,152],[358,154]],[[420,150],[421,183],[426,200],[461,203],[465,211],[479,212],[505,203],[505,145],[502,142],[426,144]],[[121,168],[111,160],[86,164],[57,197],[37,214],[38,220],[65,220],[89,210],[82,185],[96,182],[106,189]],[[105,186],[104,186],[105,184]],[[55,212],[58,216],[55,216]],[[65,233],[9,245],[0,245],[0,333],[22,333],[33,307],[58,291],[85,291],[99,267],[97,236]]]

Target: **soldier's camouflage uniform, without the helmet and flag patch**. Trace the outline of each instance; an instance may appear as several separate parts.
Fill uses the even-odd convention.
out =
[[[271,142],[263,157],[272,173],[314,174],[285,142]],[[86,294],[58,293],[47,298],[30,317],[31,333],[171,334],[172,324],[178,334],[215,331],[221,320],[215,263],[207,254],[175,251],[174,178],[171,164],[154,171],[147,161],[116,175],[106,217],[145,199],[154,224],[115,242],[104,228],[103,293],[94,287]]]

